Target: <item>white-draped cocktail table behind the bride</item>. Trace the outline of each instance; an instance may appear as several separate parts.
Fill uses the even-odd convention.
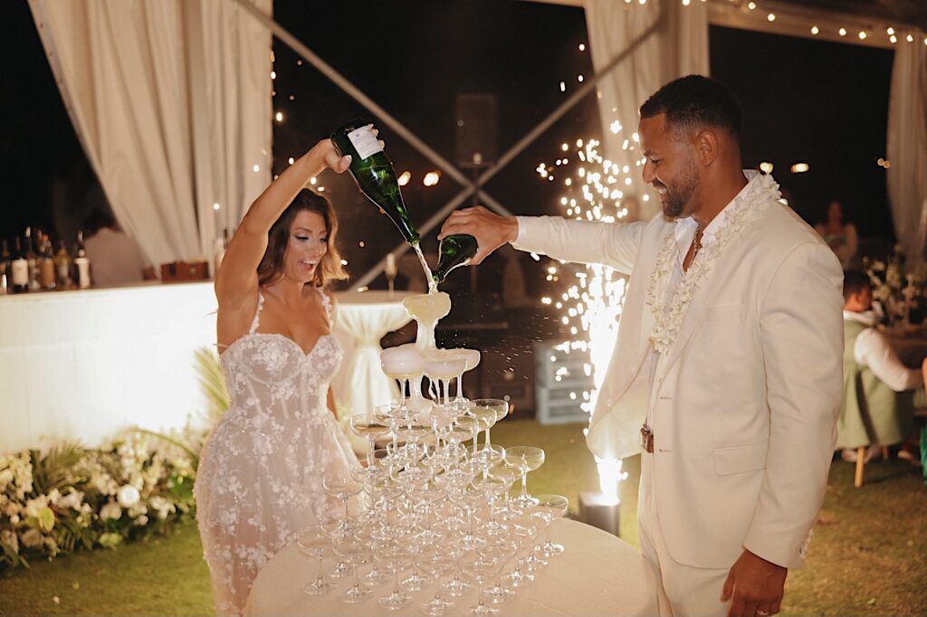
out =
[[[380,368],[380,339],[412,320],[402,306],[410,292],[341,292],[337,298],[335,336],[344,347],[332,388],[342,418],[387,405],[400,390]]]

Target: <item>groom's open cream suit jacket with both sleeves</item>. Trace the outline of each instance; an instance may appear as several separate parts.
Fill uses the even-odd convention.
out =
[[[655,371],[645,302],[676,223],[519,217],[515,247],[630,274],[616,348],[587,442],[602,458],[641,452],[654,432],[654,499],[674,560],[728,568],[743,548],[801,565],[824,490],[842,395],[843,272],[775,200],[731,238]]]

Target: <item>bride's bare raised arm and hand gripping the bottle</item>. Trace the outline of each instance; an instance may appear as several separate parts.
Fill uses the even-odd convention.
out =
[[[267,249],[267,233],[311,178],[323,170],[347,170],[350,157],[339,157],[330,139],[324,139],[299,157],[255,199],[238,226],[216,274],[219,307],[239,308],[258,288],[258,266]]]

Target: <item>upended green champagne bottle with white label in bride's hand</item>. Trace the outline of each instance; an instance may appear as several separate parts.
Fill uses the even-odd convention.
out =
[[[332,142],[342,157],[350,155],[349,170],[361,192],[387,213],[406,242],[416,246],[418,232],[402,202],[396,171],[369,124],[364,120],[352,120],[332,133]]]

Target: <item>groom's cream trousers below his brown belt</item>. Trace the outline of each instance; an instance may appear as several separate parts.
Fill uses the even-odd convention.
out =
[[[641,452],[638,534],[644,558],[656,569],[660,617],[724,617],[730,600],[720,598],[730,569],[694,568],[669,556],[654,500],[653,461],[653,454]]]

